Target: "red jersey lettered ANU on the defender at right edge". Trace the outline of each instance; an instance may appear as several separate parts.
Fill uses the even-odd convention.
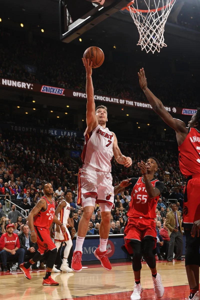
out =
[[[200,131],[190,128],[178,150],[181,173],[185,177],[200,174]]]

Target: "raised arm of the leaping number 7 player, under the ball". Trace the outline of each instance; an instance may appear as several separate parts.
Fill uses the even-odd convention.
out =
[[[92,61],[89,63],[89,59],[82,58],[85,70],[86,70],[86,123],[87,129],[85,133],[92,131],[98,125],[97,117],[95,116],[95,103],[94,103],[94,88],[92,84]]]

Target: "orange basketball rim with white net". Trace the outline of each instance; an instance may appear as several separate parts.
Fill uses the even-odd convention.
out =
[[[147,9],[139,9],[138,2],[144,2]],[[139,41],[137,45],[145,49],[148,53],[166,47],[164,43],[164,28],[169,13],[176,0],[152,0],[155,9],[150,9],[150,0],[133,0],[122,10],[127,9],[133,18],[139,31]],[[139,4],[140,4],[139,3]],[[133,6],[135,4],[135,7]]]

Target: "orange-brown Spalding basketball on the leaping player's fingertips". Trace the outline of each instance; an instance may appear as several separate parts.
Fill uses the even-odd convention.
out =
[[[92,46],[85,50],[83,58],[89,59],[90,63],[92,61],[92,68],[95,69],[103,64],[104,54],[100,48]]]

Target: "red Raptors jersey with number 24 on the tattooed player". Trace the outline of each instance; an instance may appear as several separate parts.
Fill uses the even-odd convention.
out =
[[[44,227],[49,228],[50,225],[53,223],[53,219],[55,216],[55,205],[52,199],[52,203],[43,196],[41,199],[46,200],[47,208],[45,211],[39,211],[36,216],[34,216],[34,226],[36,227]]]

